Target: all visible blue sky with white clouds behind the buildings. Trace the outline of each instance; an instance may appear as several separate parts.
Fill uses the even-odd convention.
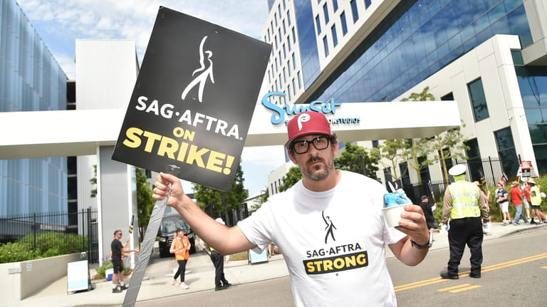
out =
[[[75,78],[77,38],[132,39],[142,61],[160,6],[257,39],[268,16],[266,0],[16,1],[68,78]],[[269,172],[285,162],[282,146],[244,148],[241,157],[245,187],[250,195],[264,189]],[[185,184],[187,190],[189,186]]]

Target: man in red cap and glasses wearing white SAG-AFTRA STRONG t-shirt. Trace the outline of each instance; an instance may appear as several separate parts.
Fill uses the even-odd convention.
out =
[[[406,204],[397,229],[387,227],[382,184],[335,170],[338,140],[325,115],[299,113],[287,130],[288,155],[303,179],[236,226],[207,216],[172,175],[158,175],[154,199],[169,195],[167,205],[221,254],[261,252],[271,242],[279,246],[298,307],[397,306],[385,245],[404,264],[420,264],[432,241],[422,209]]]

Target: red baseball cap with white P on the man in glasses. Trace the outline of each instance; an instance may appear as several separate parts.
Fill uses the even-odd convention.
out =
[[[333,132],[330,132],[330,124],[323,113],[313,111],[298,113],[288,122],[288,141],[285,143],[285,147],[290,147],[296,137],[311,134],[333,136]]]

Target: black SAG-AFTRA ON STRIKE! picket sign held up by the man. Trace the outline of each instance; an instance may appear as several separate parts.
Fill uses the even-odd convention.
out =
[[[270,51],[160,7],[113,159],[229,191]]]

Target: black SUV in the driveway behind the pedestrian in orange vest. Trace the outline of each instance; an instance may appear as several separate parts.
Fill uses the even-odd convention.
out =
[[[160,246],[160,257],[172,256],[169,252],[171,243],[173,241],[173,236],[177,233],[177,229],[184,229],[184,234],[188,236],[190,241],[190,254],[196,252],[196,244],[194,238],[194,231],[190,229],[190,226],[178,212],[167,213],[163,215],[162,224],[160,224],[160,229],[157,231],[157,236],[160,238],[158,244]]]

